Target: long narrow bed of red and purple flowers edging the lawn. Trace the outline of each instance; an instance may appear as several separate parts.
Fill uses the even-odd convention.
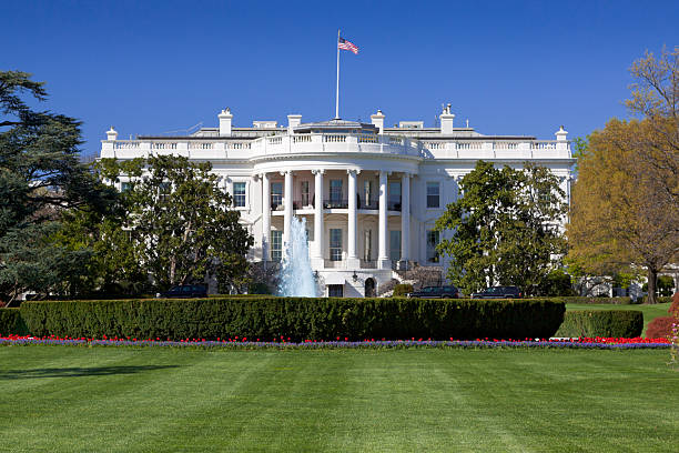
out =
[[[292,342],[290,339],[280,338],[272,341],[261,339],[234,338],[234,339],[185,339],[185,340],[160,340],[160,339],[134,339],[134,338],[103,338],[103,339],[71,339],[57,336],[0,336],[0,345],[84,345],[84,346],[145,346],[145,348],[204,348],[204,349],[404,349],[404,348],[462,348],[462,349],[486,349],[486,348],[553,348],[553,349],[668,349],[668,339],[617,339],[617,338],[580,338],[580,339],[525,339],[525,340],[363,340],[348,341],[337,338],[335,341],[305,340]]]

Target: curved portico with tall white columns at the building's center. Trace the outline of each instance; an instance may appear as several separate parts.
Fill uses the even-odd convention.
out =
[[[278,246],[285,246],[292,217],[296,215],[306,219],[310,225],[314,270],[392,269],[393,260],[403,261],[409,256],[411,177],[408,172],[395,174],[359,168],[257,173],[256,178],[262,181],[263,259],[280,259]],[[282,192],[272,192],[272,184]],[[281,217],[282,222],[277,220]],[[389,230],[388,220],[393,218],[399,218],[398,256],[392,256],[387,246],[389,231],[396,231],[393,222]],[[275,243],[276,249],[271,253],[270,238],[278,234],[282,242]],[[375,249],[377,254],[374,254]]]

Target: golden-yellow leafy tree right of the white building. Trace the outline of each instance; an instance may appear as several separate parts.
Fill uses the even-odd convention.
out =
[[[658,272],[679,252],[679,208],[668,203],[671,172],[658,172],[650,158],[656,150],[641,142],[661,142],[648,119],[610,120],[595,131],[580,161],[572,189],[568,225],[569,259],[599,275],[643,266],[649,303],[655,303]]]

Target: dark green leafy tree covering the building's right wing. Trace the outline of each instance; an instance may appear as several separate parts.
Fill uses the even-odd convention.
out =
[[[496,283],[538,292],[564,253],[559,221],[567,205],[558,179],[533,164],[513,170],[478,161],[460,191],[436,222],[452,232],[438,245],[452,258],[448,279],[465,292]]]

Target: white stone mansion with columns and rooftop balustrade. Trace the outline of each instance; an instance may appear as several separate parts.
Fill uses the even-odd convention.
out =
[[[448,104],[436,128],[423,121],[387,128],[379,110],[371,123],[302,123],[302,115],[290,114],[286,127],[254,121],[236,128],[225,109],[219,128],[184,137],[118,140],[111,128],[101,158],[181,154],[210,161],[255,238],[252,260],[280,260],[292,217],[305,218],[312,266],[325,294],[361,296],[389,281],[393,269],[445,271],[434,223],[479,159],[547,167],[570,197],[574,159],[563,127],[556,140],[540,141],[483,135],[468,124],[454,127],[454,118]]]

